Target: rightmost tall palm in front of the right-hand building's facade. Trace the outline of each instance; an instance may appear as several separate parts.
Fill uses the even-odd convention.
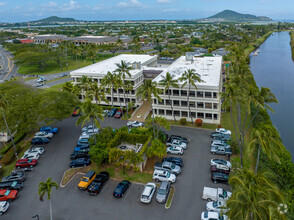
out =
[[[197,82],[203,82],[203,80],[201,79],[201,76],[198,73],[195,73],[194,69],[188,69],[187,71],[185,71],[185,73],[182,75],[182,77],[180,77],[179,79],[181,82],[184,82],[182,85],[182,88],[186,85],[188,85],[188,98],[187,98],[187,103],[188,103],[188,108],[189,108],[189,114],[191,117],[191,122],[193,125],[193,117],[191,114],[191,108],[190,108],[190,90],[191,87],[194,87],[197,90],[197,86],[196,83]]]

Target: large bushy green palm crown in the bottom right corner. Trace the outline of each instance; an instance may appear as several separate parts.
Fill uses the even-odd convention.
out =
[[[284,197],[269,177],[268,173],[255,174],[252,170],[240,169],[230,178],[233,194],[226,204],[230,219],[271,219],[272,213],[276,219],[286,219],[278,211]]]

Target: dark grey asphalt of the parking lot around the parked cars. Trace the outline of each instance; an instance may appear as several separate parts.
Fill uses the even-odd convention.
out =
[[[38,184],[52,177],[58,184],[65,170],[69,168],[69,155],[73,151],[81,128],[75,126],[76,118],[68,118],[57,124],[59,132],[51,143],[45,145],[45,153],[38,161],[33,172],[27,173],[24,188],[19,198],[11,203],[1,219],[31,219],[38,214],[40,219],[49,219],[49,203],[41,202],[38,197]],[[113,128],[126,125],[126,121],[111,119]],[[103,126],[108,126],[105,119]],[[118,181],[109,180],[98,196],[91,196],[77,188],[80,176],[76,176],[66,187],[53,189],[51,194],[54,219],[200,219],[206,201],[201,199],[204,186],[223,187],[210,180],[210,159],[221,158],[210,153],[210,131],[183,127],[172,127],[168,132],[189,139],[188,149],[183,156],[184,168],[174,187],[175,196],[170,209],[158,204],[153,198],[151,204],[140,202],[144,185],[132,184],[122,199],[112,196]],[[223,157],[225,158],[225,157]],[[46,197],[47,198],[47,197]]]

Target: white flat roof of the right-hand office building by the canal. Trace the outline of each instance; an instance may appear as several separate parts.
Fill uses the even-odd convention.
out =
[[[186,56],[179,57],[174,63],[159,74],[153,81],[159,82],[162,76],[169,72],[179,79],[188,69],[194,69],[204,82],[197,82],[201,86],[219,86],[221,77],[222,57],[193,57],[193,61],[187,61]],[[179,84],[182,84],[179,82]]]

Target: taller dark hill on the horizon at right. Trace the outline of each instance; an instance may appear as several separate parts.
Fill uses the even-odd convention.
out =
[[[255,16],[251,14],[241,14],[231,10],[224,10],[209,19],[222,19],[224,21],[271,21],[272,19],[265,16]]]

